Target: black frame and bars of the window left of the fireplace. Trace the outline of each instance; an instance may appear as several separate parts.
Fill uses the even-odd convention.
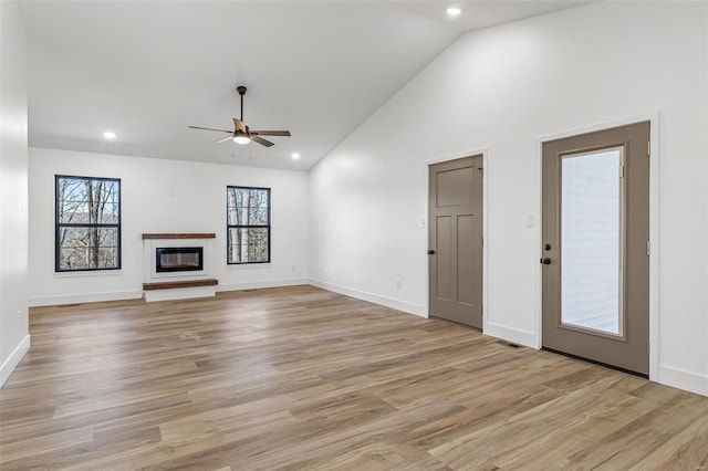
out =
[[[73,180],[100,180],[100,181],[115,181],[118,184],[118,222],[113,224],[107,223],[71,223],[60,222],[60,201],[59,201],[59,181],[60,179],[73,179]],[[123,241],[122,241],[122,222],[123,222],[123,193],[122,181],[119,178],[106,178],[106,177],[83,177],[75,175],[54,175],[54,272],[55,273],[72,273],[72,272],[96,272],[96,271],[115,271],[123,268]],[[62,228],[116,228],[116,249],[117,249],[117,264],[116,266],[108,268],[85,268],[85,269],[62,269],[61,268],[61,240],[60,234]]]

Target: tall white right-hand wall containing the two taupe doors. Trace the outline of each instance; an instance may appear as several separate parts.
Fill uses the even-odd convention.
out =
[[[426,315],[426,163],[487,148],[486,332],[538,346],[541,137],[658,111],[654,379],[708,394],[707,30],[601,2],[461,36],[311,171],[314,283]]]

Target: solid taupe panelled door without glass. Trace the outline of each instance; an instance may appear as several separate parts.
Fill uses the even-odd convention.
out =
[[[482,327],[482,156],[429,167],[429,313]]]

